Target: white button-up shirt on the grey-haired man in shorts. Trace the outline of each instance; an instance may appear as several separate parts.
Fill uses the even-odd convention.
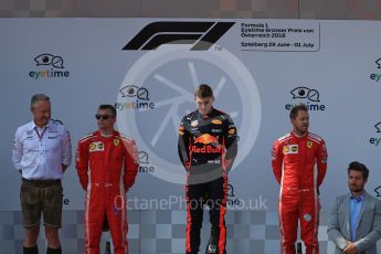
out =
[[[25,179],[61,179],[72,161],[70,133],[55,120],[43,128],[32,120],[15,131],[12,161]]]

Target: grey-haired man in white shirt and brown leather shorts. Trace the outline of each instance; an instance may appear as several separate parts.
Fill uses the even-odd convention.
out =
[[[41,213],[44,218],[47,254],[61,254],[59,229],[62,218],[61,178],[72,160],[70,134],[60,120],[51,119],[50,98],[31,99],[33,120],[20,126],[13,141],[12,161],[22,176],[21,209],[24,254],[38,254]]]

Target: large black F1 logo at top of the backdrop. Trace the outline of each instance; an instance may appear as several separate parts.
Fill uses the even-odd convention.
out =
[[[192,51],[207,51],[234,23],[235,22],[154,22],[147,24],[123,47],[123,50],[156,50],[162,44],[193,44]]]

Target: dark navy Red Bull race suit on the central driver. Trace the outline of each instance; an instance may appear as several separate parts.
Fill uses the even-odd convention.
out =
[[[216,251],[225,253],[227,172],[237,154],[237,140],[233,120],[218,109],[207,116],[195,110],[182,118],[178,151],[187,169],[187,253],[199,253],[205,195],[213,203],[209,214]]]

